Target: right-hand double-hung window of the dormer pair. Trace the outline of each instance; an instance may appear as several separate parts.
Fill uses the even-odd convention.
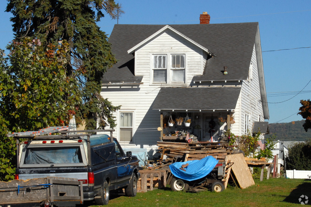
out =
[[[185,83],[185,55],[171,56],[172,83]]]

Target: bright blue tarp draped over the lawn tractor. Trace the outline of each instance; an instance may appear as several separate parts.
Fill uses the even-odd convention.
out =
[[[186,171],[179,169],[183,164],[187,163],[188,166],[184,168]],[[212,171],[217,163],[218,160],[216,160],[214,157],[207,156],[202,160],[175,162],[169,165],[169,169],[175,177],[181,178],[183,180],[193,181],[207,176],[207,174]]]

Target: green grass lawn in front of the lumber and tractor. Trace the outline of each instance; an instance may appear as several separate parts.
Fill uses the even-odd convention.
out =
[[[311,205],[311,180],[270,178],[254,179],[246,189],[228,186],[223,192],[173,192],[169,187],[137,193],[136,197],[110,194],[109,206],[300,206],[299,197],[306,195]],[[302,199],[305,201],[305,199]],[[91,204],[90,204],[91,205]],[[88,206],[88,205],[85,205]],[[91,205],[93,207],[97,205]]]

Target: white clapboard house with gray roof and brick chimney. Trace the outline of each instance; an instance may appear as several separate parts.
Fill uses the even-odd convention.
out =
[[[213,136],[217,142],[227,129],[218,119],[227,115],[234,116],[236,135],[258,126],[266,132],[258,22],[201,23],[114,26],[109,43],[118,63],[104,74],[101,95],[121,105],[114,137],[123,147],[146,148],[151,154],[162,133],[182,130],[199,141]],[[191,126],[166,127],[170,116],[189,118]]]

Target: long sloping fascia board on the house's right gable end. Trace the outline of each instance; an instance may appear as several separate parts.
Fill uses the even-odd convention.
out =
[[[261,43],[260,43],[259,25],[257,26],[257,33],[255,37],[255,51],[256,51],[256,59],[257,59],[259,88],[260,88],[260,96],[262,100],[263,116],[264,116],[264,119],[270,119],[268,103],[267,103],[265,76],[263,72],[263,61],[262,61],[262,50],[261,50]]]

